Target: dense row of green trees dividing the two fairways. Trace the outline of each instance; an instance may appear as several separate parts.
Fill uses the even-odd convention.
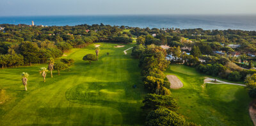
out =
[[[140,59],[142,81],[150,93],[141,107],[146,114],[145,125],[196,125],[187,122],[177,114],[178,104],[171,96],[170,82],[164,75],[170,61],[165,59],[166,51],[156,45],[136,45],[132,56]]]

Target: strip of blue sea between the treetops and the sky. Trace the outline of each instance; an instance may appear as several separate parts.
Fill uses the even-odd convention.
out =
[[[76,26],[109,24],[139,28],[202,28],[242,29],[256,31],[256,15],[87,15],[0,17],[0,24],[31,24],[44,26]]]

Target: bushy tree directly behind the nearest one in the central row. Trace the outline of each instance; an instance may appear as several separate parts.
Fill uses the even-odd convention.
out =
[[[145,96],[143,100],[144,106],[142,107],[145,110],[156,110],[161,107],[166,107],[169,110],[176,111],[178,104],[176,100],[170,95],[156,95],[149,93]]]

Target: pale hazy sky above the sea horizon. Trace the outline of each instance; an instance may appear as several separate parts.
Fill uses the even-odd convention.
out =
[[[0,15],[256,14],[256,0],[0,0]]]

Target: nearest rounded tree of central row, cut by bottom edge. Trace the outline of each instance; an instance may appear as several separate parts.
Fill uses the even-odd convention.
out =
[[[148,113],[146,125],[149,126],[184,126],[188,125],[186,120],[179,114],[166,108],[156,109]]]

